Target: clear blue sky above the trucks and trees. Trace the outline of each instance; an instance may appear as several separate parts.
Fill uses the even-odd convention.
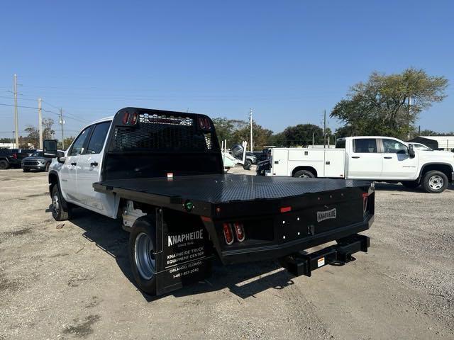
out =
[[[279,132],[320,124],[374,70],[413,66],[450,80],[419,121],[449,131],[453,33],[453,1],[4,1],[0,103],[13,103],[16,73],[19,105],[41,97],[52,118],[62,107],[66,135],[124,106],[238,119],[253,108]],[[19,108],[20,129],[37,117]],[[0,137],[12,130],[0,106]]]

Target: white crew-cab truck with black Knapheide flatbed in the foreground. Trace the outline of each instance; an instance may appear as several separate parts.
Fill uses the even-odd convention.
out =
[[[123,108],[84,128],[65,154],[56,149],[45,141],[55,157],[53,217],[71,218],[79,206],[121,219],[133,276],[150,295],[205,278],[214,256],[224,264],[279,259],[311,276],[369,246],[358,233],[374,218],[373,183],[223,174],[206,115]]]

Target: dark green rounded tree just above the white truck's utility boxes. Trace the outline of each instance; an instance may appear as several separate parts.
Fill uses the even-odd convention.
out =
[[[323,129],[314,124],[289,126],[282,134],[284,135],[283,145],[285,147],[312,145],[313,136],[315,144],[323,144]]]

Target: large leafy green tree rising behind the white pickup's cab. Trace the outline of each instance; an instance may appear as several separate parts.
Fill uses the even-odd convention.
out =
[[[331,117],[351,135],[387,135],[405,138],[415,132],[419,113],[443,101],[448,80],[433,77],[423,69],[406,69],[401,74],[373,72],[367,82],[354,85],[336,104]],[[411,104],[409,104],[411,98]]]

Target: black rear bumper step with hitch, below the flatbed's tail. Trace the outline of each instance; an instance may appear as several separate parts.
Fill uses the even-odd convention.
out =
[[[338,244],[328,246],[311,254],[301,252],[279,259],[279,263],[294,276],[311,276],[312,271],[326,264],[343,265],[350,261],[355,261],[352,254],[358,251],[367,252],[370,246],[370,239],[367,236],[353,234],[343,239],[337,240]]]

